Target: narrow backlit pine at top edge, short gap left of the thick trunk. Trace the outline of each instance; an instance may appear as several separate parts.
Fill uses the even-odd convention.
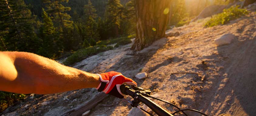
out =
[[[120,10],[123,7],[119,0],[108,0],[105,17],[108,24],[109,34],[113,37],[119,35],[119,29],[121,24]]]

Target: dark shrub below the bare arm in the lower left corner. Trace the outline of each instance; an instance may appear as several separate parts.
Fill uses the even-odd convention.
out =
[[[24,94],[15,94],[5,91],[0,91],[0,113],[12,105],[14,102],[23,100],[26,96]]]

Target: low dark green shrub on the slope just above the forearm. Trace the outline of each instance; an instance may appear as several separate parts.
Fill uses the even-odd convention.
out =
[[[71,65],[73,63],[79,62],[88,56],[95,55],[100,52],[113,49],[112,46],[96,45],[90,46],[84,49],[79,49],[74,52],[71,56],[68,56],[67,59],[63,62],[64,65]]]

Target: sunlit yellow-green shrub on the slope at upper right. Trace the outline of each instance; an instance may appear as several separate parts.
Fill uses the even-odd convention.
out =
[[[207,21],[204,26],[212,27],[220,24],[226,24],[230,20],[237,19],[243,15],[247,15],[248,11],[246,9],[239,9],[238,6],[231,6],[229,9],[224,9],[222,13],[214,15],[209,21]]]

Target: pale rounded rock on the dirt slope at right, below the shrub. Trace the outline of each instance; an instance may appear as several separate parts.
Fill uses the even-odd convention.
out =
[[[233,34],[228,33],[228,34],[225,34],[225,35],[221,36],[218,39],[215,39],[214,42],[217,46],[222,46],[222,45],[230,44],[233,39],[236,39],[236,36],[234,36]]]

